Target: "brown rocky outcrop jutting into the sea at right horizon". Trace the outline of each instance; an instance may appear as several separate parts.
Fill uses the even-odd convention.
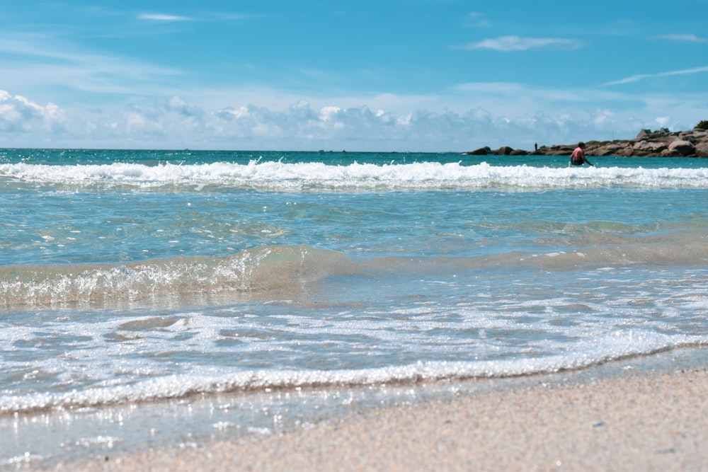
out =
[[[576,144],[556,144],[554,146],[540,146],[534,151],[525,151],[524,149],[512,149],[509,146],[501,146],[496,150],[484,146],[464,154],[472,156],[488,154],[569,156],[575,147]],[[588,156],[708,157],[708,130],[690,129],[670,132],[666,128],[658,131],[642,129],[634,139],[610,142],[588,141],[585,152]]]

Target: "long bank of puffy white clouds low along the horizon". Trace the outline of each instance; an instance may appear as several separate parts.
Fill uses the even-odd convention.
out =
[[[686,129],[708,93],[634,96],[525,84],[462,84],[447,96],[370,96],[267,105],[222,91],[219,105],[172,96],[152,103],[61,108],[0,91],[0,146],[156,149],[467,151]],[[258,105],[241,104],[254,100]],[[315,100],[315,99],[313,99]],[[216,103],[216,101],[214,101]],[[358,104],[356,104],[358,103]],[[365,103],[365,105],[362,105]],[[618,103],[629,103],[618,108]],[[661,125],[661,126],[660,126]]]

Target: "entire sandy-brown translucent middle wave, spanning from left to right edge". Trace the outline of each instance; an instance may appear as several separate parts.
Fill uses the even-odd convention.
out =
[[[452,267],[528,267],[565,271],[627,265],[704,266],[708,245],[702,227],[654,236],[587,234],[545,241],[543,251],[509,251],[471,258],[371,258],[310,246],[264,246],[226,258],[189,256],[106,265],[0,267],[0,306],[101,304],[204,297],[292,296],[303,284],[334,275],[430,272]],[[441,268],[442,267],[442,268]]]

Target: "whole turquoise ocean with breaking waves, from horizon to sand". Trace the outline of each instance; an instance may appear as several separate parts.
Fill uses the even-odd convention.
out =
[[[0,466],[704,356],[708,160],[590,160],[0,149]]]

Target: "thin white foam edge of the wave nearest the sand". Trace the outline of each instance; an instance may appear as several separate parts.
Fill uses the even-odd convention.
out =
[[[627,340],[634,340],[627,343]],[[503,378],[580,370],[606,362],[685,347],[704,347],[705,337],[660,333],[616,332],[588,340],[570,355],[480,362],[416,362],[352,370],[263,370],[219,376],[183,374],[139,381],[135,384],[87,388],[62,393],[0,396],[0,414],[102,407],[186,398],[195,395],[257,392],[267,389],[365,387],[422,384],[434,381]]]

